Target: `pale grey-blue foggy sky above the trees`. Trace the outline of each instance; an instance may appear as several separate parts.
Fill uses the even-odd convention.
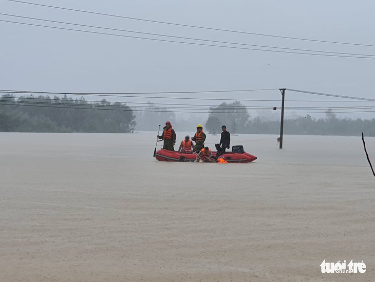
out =
[[[196,26],[277,36],[375,45],[373,1],[47,1],[33,3]],[[209,40],[334,52],[374,54],[375,47],[349,46],[203,30],[119,19],[0,1],[1,13],[85,25],[154,32]],[[94,30],[0,15],[0,20]],[[100,32],[127,34],[116,31]],[[0,89],[48,92],[161,92],[233,89],[308,90],[374,98],[373,59],[334,58],[197,46],[89,34],[0,22]],[[165,38],[162,38],[165,39]],[[172,39],[175,40],[175,39]],[[182,41],[182,40],[181,40]],[[248,46],[250,47],[250,46]],[[163,96],[168,96],[164,94]],[[271,92],[173,94],[168,97],[280,99]],[[287,92],[288,99],[334,100]],[[76,98],[76,97],[73,97]],[[77,96],[77,98],[79,98]],[[87,99],[92,99],[89,97]],[[98,98],[99,100],[101,99]],[[155,103],[181,100],[107,98],[109,101]],[[374,102],[286,103],[289,107],[341,107]],[[185,103],[188,103],[184,101]],[[221,101],[189,101],[219,104]],[[230,101],[229,101],[230,102]],[[280,102],[243,102],[279,107]],[[130,107],[132,106],[129,104]],[[374,113],[344,113],[372,118]],[[187,116],[188,114],[186,114]],[[301,114],[306,115],[306,114]],[[183,115],[181,115],[183,116]],[[256,116],[252,114],[252,116]],[[286,115],[286,117],[292,115]],[[324,117],[324,115],[313,115]],[[276,115],[279,118],[279,115]],[[205,122],[203,120],[202,122]]]

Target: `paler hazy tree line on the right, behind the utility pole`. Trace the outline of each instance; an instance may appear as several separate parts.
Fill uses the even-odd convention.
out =
[[[205,124],[206,131],[221,132],[222,125],[226,125],[231,133],[280,133],[279,120],[264,120],[260,117],[251,119],[246,107],[238,101],[211,107]],[[367,136],[375,136],[375,118],[370,120],[337,118],[328,110],[325,118],[314,119],[307,115],[284,120],[284,134],[359,136],[362,132]]]

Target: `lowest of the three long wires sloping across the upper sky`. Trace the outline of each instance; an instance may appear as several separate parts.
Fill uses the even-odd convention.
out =
[[[11,0],[8,0],[8,1],[11,1]],[[145,37],[136,37],[136,36],[126,36],[126,35],[123,35],[123,34],[114,34],[114,33],[98,32],[98,31],[88,31],[88,30],[73,29],[73,28],[63,28],[63,27],[55,27],[55,26],[47,26],[47,25],[37,25],[37,24],[21,23],[21,22],[6,21],[6,20],[0,20],[0,22],[13,23],[13,24],[22,24],[22,25],[29,25],[29,26],[37,26],[37,27],[47,27],[47,28],[52,28],[52,29],[69,30],[69,31],[78,31],[78,32],[93,33],[93,34],[102,34],[102,35],[107,35],[107,36],[126,37],[126,38],[135,38],[135,39],[143,39],[143,40],[162,41],[162,42],[173,42],[173,43],[180,43],[180,44],[190,44],[190,45],[210,46],[210,47],[219,47],[219,48],[230,48],[230,49],[241,49],[241,50],[253,50],[253,51],[264,51],[264,52],[286,53],[286,54],[296,54],[296,55],[311,55],[311,56],[325,56],[325,57],[339,57],[339,58],[358,58],[358,59],[375,59],[375,57],[343,56],[343,55],[332,55],[332,54],[313,54],[313,53],[305,53],[305,52],[291,52],[291,51],[280,51],[280,50],[266,50],[266,49],[257,49],[257,48],[246,48],[246,47],[235,47],[235,46],[223,46],[223,45],[203,44],[203,43],[194,43],[194,42],[183,42],[183,41],[175,41],[175,40],[156,39],[156,38],[145,38]],[[373,55],[371,55],[371,56],[373,56]]]

